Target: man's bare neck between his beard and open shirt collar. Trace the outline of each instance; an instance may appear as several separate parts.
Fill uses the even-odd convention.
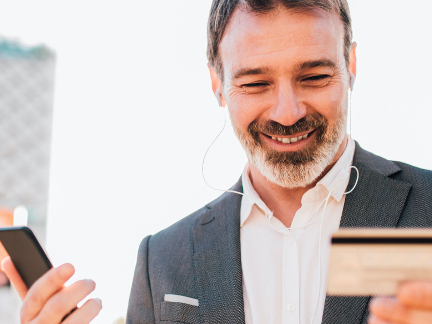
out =
[[[329,172],[340,156],[342,156],[347,143],[348,137],[346,136],[330,165],[327,165],[321,175],[306,187],[291,189],[280,187],[279,185],[268,181],[267,178],[265,178],[264,175],[261,175],[257,168],[251,164],[249,178],[251,179],[251,183],[257,194],[261,197],[267,207],[273,211],[273,216],[279,219],[283,225],[289,227],[291,226],[295,212],[297,212],[297,210],[302,206],[303,194],[313,188],[317,182],[320,181],[327,172]]]

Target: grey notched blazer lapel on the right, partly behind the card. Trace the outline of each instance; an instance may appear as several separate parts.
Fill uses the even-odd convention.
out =
[[[359,181],[351,194],[345,197],[340,228],[396,227],[411,184],[389,178],[400,168],[391,161],[366,152],[356,144],[353,165],[359,169]],[[348,188],[356,181],[352,170]],[[327,296],[323,324],[366,321],[370,297]]]

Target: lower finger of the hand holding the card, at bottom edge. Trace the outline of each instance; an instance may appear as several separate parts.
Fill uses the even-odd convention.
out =
[[[377,298],[370,305],[371,314],[381,319],[397,324],[427,324],[432,323],[432,312],[408,307],[394,298]]]

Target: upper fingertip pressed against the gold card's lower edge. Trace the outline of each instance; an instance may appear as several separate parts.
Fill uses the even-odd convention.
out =
[[[397,289],[397,297],[407,306],[432,310],[432,282],[413,281],[403,283]]]

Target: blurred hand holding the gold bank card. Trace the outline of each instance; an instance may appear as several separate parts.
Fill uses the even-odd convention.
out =
[[[432,282],[400,285],[397,298],[376,298],[370,305],[369,324],[432,323]]]

